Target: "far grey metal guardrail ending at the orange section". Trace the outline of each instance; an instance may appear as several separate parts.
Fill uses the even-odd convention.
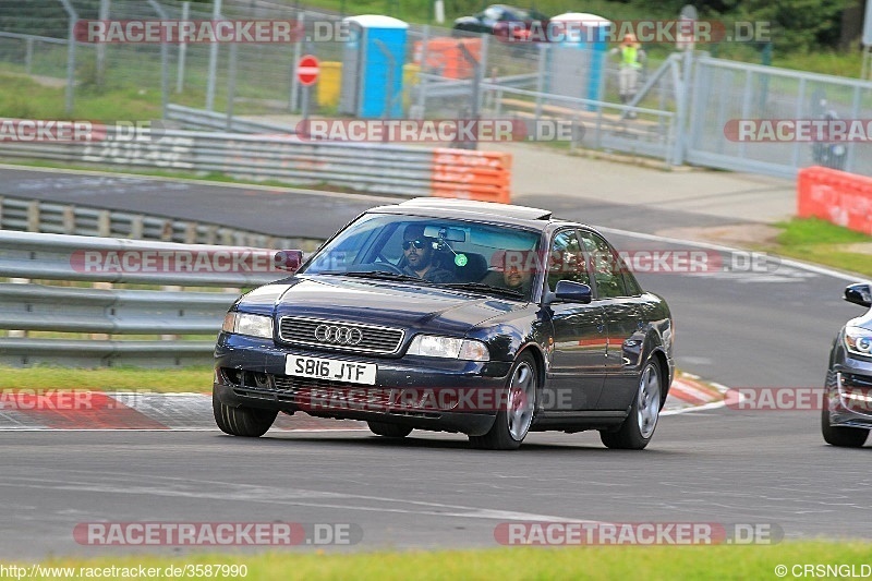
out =
[[[432,191],[434,153],[423,147],[175,130],[130,141],[116,136],[106,128],[106,138],[95,141],[0,141],[0,157],[220,172],[407,196]]]

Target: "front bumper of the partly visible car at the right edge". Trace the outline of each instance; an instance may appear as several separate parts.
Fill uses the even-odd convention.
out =
[[[827,404],[831,425],[872,428],[872,362],[849,358],[834,365]]]

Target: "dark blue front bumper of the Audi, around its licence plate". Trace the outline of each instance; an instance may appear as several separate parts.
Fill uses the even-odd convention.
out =
[[[286,375],[288,354],[375,363],[376,383]],[[221,335],[215,350],[214,390],[223,404],[232,407],[483,435],[494,423],[510,368],[510,362],[286,349],[271,340]]]

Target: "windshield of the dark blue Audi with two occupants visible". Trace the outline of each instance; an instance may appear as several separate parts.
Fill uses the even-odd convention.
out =
[[[366,214],[300,270],[467,288],[529,300],[538,232],[443,218]]]

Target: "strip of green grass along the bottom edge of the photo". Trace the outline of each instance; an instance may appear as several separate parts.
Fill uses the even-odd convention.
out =
[[[365,542],[365,531],[364,531]],[[504,547],[482,550],[391,552],[372,554],[266,553],[155,557],[146,555],[97,559],[52,558],[52,567],[157,567],[195,564],[245,565],[247,579],[262,580],[444,580],[444,579],[644,579],[746,580],[778,579],[775,567],[795,565],[869,566],[872,545],[861,542],[798,542],[775,546],[685,547]],[[788,573],[787,578],[794,579]],[[186,577],[194,579],[194,577]],[[237,579],[243,579],[238,577]]]

